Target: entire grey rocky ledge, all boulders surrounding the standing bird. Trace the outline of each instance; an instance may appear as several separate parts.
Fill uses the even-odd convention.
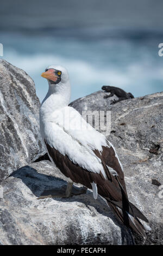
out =
[[[101,197],[93,199],[91,190],[68,199],[39,199],[45,190],[60,190],[66,182],[46,156],[39,158],[40,103],[33,81],[0,60],[0,93],[1,245],[163,245],[163,93],[110,105],[116,96],[104,99],[99,91],[71,104],[79,112],[111,111],[111,133],[106,136],[123,164],[129,200],[149,219],[146,240],[121,225]]]

